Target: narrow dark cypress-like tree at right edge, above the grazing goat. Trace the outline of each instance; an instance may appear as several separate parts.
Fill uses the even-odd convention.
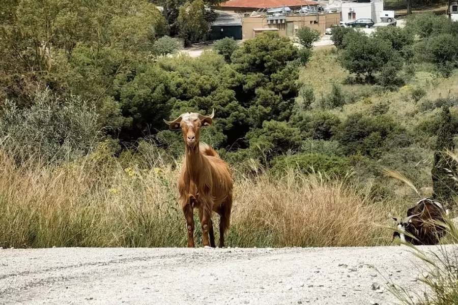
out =
[[[445,155],[446,150],[453,150],[453,126],[450,110],[447,105],[442,106],[441,125],[438,130],[436,152],[434,154],[434,167],[431,171],[433,178],[433,198],[441,201],[444,207],[449,208],[452,203],[453,194],[456,191],[456,182],[451,175],[456,171],[456,163],[452,158]]]

